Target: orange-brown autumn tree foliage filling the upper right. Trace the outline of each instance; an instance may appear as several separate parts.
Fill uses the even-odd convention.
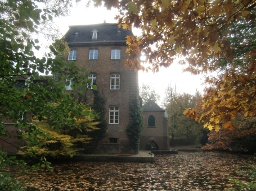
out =
[[[102,3],[94,2],[96,6]],[[177,56],[185,58],[186,71],[194,74],[227,66],[226,73],[206,79],[210,87],[203,98],[205,113],[187,109],[187,117],[218,131],[222,126],[233,128],[230,120],[236,114],[244,112],[245,118],[253,115],[256,109],[255,0],[104,3],[107,8],[118,8],[116,18],[120,27],[142,29],[141,36],[127,37],[127,53],[131,56],[125,62],[127,67],[157,72],[159,67],[172,64]],[[145,56],[143,60],[141,55]],[[150,67],[143,66],[144,63]]]

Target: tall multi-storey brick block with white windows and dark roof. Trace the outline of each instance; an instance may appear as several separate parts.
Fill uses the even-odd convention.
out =
[[[129,58],[125,53],[128,35],[133,35],[132,31],[107,23],[69,26],[65,34],[70,48],[68,62],[75,60],[78,67],[85,67],[90,73],[87,103],[93,107],[91,85],[97,85],[106,98],[107,131],[97,153],[133,152],[125,128],[129,122],[129,101],[138,95],[138,74],[124,67]],[[67,90],[71,87],[67,86]]]

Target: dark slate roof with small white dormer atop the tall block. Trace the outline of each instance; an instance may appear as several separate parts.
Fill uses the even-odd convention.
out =
[[[92,31],[96,30],[97,39],[92,39]],[[119,31],[119,32],[118,32]],[[87,43],[125,43],[126,36],[133,35],[131,30],[118,28],[117,24],[102,23],[95,25],[75,25],[69,26],[65,39],[68,44],[87,44]]]

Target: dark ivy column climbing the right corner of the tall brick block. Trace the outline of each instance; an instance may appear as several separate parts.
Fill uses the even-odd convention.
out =
[[[132,142],[136,153],[140,150],[140,138],[143,128],[142,108],[138,98],[133,99],[129,106],[130,122],[126,129],[127,135]]]

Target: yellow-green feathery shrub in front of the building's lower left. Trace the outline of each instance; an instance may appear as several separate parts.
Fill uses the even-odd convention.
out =
[[[59,104],[52,104],[52,107],[54,108],[57,105]],[[74,109],[77,109],[79,105],[83,104],[75,105]],[[89,115],[74,117],[75,125],[79,127],[74,129],[66,127],[65,124],[58,124],[58,127],[56,127],[52,125],[51,121],[41,120],[39,122],[39,120],[33,118],[32,122],[36,129],[33,131],[33,136],[30,135],[32,140],[28,133],[24,132],[23,137],[28,142],[25,146],[20,147],[19,154],[36,153],[43,157],[73,157],[78,151],[84,150],[86,146],[81,148],[81,143],[88,145],[91,142],[94,137],[91,137],[89,132],[97,131],[97,125],[100,122],[96,121],[97,114],[89,108],[84,109],[83,112],[89,112]]]

